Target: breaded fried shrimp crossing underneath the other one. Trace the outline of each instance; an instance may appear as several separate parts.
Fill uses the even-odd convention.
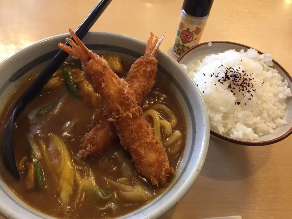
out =
[[[151,32],[146,43],[144,56],[141,56],[132,64],[126,78],[129,89],[134,91],[136,102],[139,105],[155,84],[158,65],[156,55],[165,34],[159,40],[157,36],[153,40],[153,36],[154,34]],[[104,135],[106,132],[111,134]],[[100,123],[96,124],[89,133],[86,133],[85,140],[81,145],[82,149],[79,151],[80,157],[102,154],[109,144],[113,142],[115,138],[115,135],[112,134],[113,132],[113,125],[109,126],[109,121],[106,121],[105,118],[100,118]]]

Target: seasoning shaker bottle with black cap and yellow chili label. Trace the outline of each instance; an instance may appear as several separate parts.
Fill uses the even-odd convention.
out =
[[[213,1],[184,0],[179,27],[172,47],[172,51],[177,57],[200,42]]]

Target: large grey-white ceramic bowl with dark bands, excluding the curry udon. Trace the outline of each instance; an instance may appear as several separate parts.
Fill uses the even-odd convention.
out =
[[[0,111],[19,85],[40,71],[54,57],[58,43],[69,34],[61,34],[40,40],[0,64]],[[99,54],[117,53],[123,61],[133,63],[145,52],[146,43],[115,33],[89,32],[85,45]],[[184,69],[170,56],[158,52],[157,76],[170,81],[174,94],[185,117],[186,146],[176,173],[165,191],[140,209],[120,218],[158,218],[178,203],[187,193],[202,169],[209,143],[209,121],[207,112],[194,82]],[[72,58],[69,58],[72,59]],[[1,165],[1,169],[5,166]],[[93,206],[92,206],[93,207]],[[30,207],[12,192],[2,176],[0,179],[0,214],[6,218],[53,218]]]

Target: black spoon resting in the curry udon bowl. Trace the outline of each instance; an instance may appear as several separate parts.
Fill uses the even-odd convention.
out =
[[[99,16],[103,13],[106,7],[112,0],[100,0],[95,8],[90,12],[87,18],[83,21],[83,23],[78,27],[75,34],[79,39],[82,39],[92,25],[96,22]],[[72,39],[72,37],[70,38]],[[73,40],[73,39],[72,39]],[[66,43],[65,45],[69,45]],[[1,148],[3,154],[3,160],[5,166],[9,170],[9,172],[16,179],[19,179],[19,172],[16,166],[14,149],[13,149],[13,124],[16,118],[20,115],[24,107],[33,100],[36,95],[43,88],[43,85],[47,83],[47,81],[52,77],[52,75],[57,71],[58,68],[62,65],[62,63],[68,57],[68,53],[63,50],[59,50],[53,60],[47,64],[47,66],[43,69],[40,75],[30,84],[30,86],[23,92],[23,94],[17,100],[12,115],[9,118],[8,123],[4,127]]]

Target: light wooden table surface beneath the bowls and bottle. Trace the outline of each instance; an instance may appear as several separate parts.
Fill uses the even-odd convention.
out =
[[[0,0],[0,61],[37,40],[75,30],[97,1]],[[171,53],[182,0],[113,0],[92,30],[146,40],[166,32]],[[273,54],[292,72],[292,0],[215,0],[201,42],[227,40]],[[264,147],[210,140],[200,176],[167,218],[292,218],[292,136]]]

